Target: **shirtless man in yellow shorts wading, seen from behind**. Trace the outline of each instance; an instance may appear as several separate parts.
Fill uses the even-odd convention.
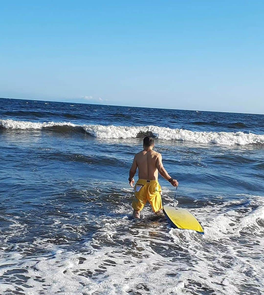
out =
[[[135,197],[132,203],[133,217],[140,218],[140,211],[143,209],[147,200],[152,206],[155,214],[161,211],[161,187],[158,182],[158,171],[173,186],[178,186],[178,181],[169,176],[162,164],[160,153],[153,150],[154,139],[145,137],[143,140],[143,150],[134,157],[132,166],[129,171],[129,184],[133,188],[134,175],[138,168],[138,181],[135,184]]]

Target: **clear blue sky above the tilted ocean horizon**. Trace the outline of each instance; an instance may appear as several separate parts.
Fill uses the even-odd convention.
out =
[[[264,1],[2,1],[0,97],[264,113]]]

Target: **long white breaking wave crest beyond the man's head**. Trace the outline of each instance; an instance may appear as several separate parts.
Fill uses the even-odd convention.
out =
[[[56,129],[57,132],[67,132],[68,128],[80,132],[80,128],[98,138],[136,138],[142,135],[153,135],[163,140],[182,140],[197,143],[213,143],[219,145],[264,144],[264,135],[244,132],[198,132],[184,129],[171,129],[158,126],[104,126],[77,125],[70,122],[25,122],[11,119],[0,120],[2,129]]]

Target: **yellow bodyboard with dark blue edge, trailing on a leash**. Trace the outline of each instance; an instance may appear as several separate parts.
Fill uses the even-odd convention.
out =
[[[187,210],[165,205],[163,207],[163,212],[172,227],[183,230],[196,230],[197,232],[204,234],[201,224],[199,224],[192,213]]]

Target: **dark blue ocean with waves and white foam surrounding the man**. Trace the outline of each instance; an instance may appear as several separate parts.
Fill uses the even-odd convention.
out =
[[[131,218],[145,135],[204,235]],[[263,294],[264,115],[0,99],[0,151],[0,294]]]

